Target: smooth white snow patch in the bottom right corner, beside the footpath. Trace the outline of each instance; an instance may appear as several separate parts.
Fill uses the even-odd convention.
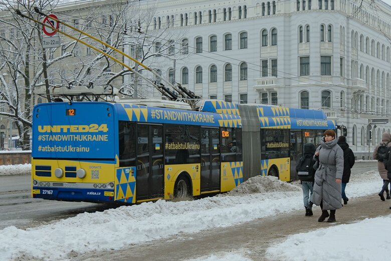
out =
[[[267,250],[271,260],[387,260],[391,215],[289,236]]]

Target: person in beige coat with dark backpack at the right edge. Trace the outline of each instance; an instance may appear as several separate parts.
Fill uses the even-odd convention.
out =
[[[386,194],[386,198],[390,199],[389,196],[389,190],[388,190],[388,183],[389,180],[387,178],[387,170],[384,166],[384,160],[387,159],[387,151],[388,148],[391,147],[391,134],[388,132],[384,132],[381,134],[381,142],[376,145],[375,149],[373,150],[373,159],[377,159],[377,171],[380,174],[380,177],[383,179],[383,186],[381,187],[381,190],[379,192],[379,197],[382,201],[384,201],[384,191]]]

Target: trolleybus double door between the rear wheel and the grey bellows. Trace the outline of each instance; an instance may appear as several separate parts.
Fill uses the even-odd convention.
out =
[[[219,129],[201,128],[201,192],[220,190]]]

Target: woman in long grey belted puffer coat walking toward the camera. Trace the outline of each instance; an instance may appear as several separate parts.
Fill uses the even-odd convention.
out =
[[[323,133],[314,158],[319,160],[319,166],[315,172],[311,201],[322,209],[319,222],[324,221],[328,216],[330,217],[327,222],[335,222],[335,210],[342,207],[343,150],[338,146],[333,130],[326,130]],[[327,210],[330,210],[330,214]]]

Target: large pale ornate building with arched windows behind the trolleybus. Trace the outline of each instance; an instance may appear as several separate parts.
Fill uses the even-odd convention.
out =
[[[371,158],[391,111],[391,7],[346,0],[159,0],[149,30],[187,55],[161,58],[162,75],[204,98],[318,109]],[[152,27],[152,28],[151,28]],[[174,51],[170,48],[167,52]],[[377,119],[377,120],[373,120]],[[370,122],[371,123],[368,124]],[[371,130],[368,142],[367,129]]]

